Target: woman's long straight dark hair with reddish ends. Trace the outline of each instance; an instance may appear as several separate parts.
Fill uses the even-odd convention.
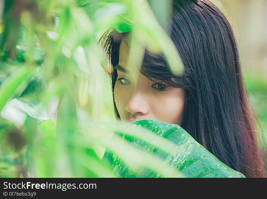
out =
[[[168,28],[184,72],[174,77],[164,56],[147,50],[140,72],[184,89],[181,127],[196,141],[246,177],[266,177],[256,134],[261,131],[256,130],[228,20],[208,0],[177,0]],[[119,61],[121,38],[128,34],[110,29],[99,40],[113,66]],[[112,92],[116,78],[114,69]],[[115,102],[114,108],[120,118]]]

